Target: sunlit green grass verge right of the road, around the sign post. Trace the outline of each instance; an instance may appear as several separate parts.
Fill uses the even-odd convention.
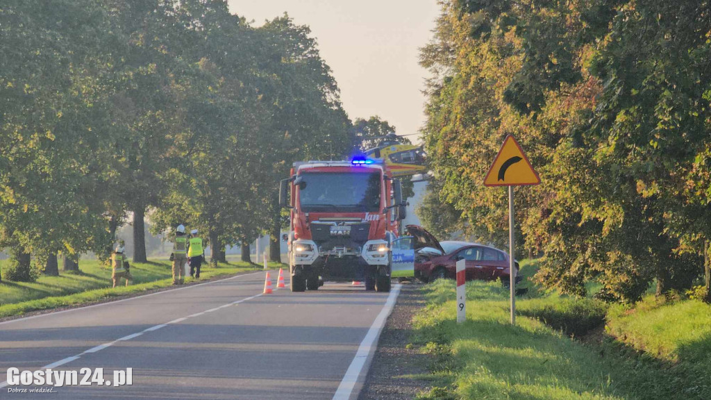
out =
[[[570,320],[576,315],[597,319],[601,304],[594,300],[523,298],[514,327],[508,323],[508,291],[498,283],[474,281],[466,288],[467,321],[456,324],[454,283],[437,281],[423,290],[427,307],[415,317],[413,339],[433,356],[428,377],[433,389],[419,399],[711,398],[708,379],[700,379],[709,369],[689,375],[688,369],[675,369],[619,342],[583,344],[545,325],[540,316],[523,315],[550,309]]]

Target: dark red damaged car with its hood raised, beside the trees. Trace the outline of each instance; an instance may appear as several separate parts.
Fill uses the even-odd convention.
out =
[[[466,260],[466,279],[497,280],[509,283],[508,253],[483,246],[479,243],[461,241],[437,241],[432,233],[422,226],[408,225],[415,249],[415,277],[424,282],[437,278],[454,278],[456,262]],[[515,262],[518,272],[518,262]],[[521,280],[516,277],[516,282]]]

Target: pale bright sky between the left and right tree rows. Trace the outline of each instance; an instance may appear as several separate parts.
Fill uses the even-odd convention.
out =
[[[424,79],[419,48],[432,36],[437,0],[228,0],[232,14],[254,20],[284,11],[311,27],[321,57],[341,88],[351,120],[379,115],[400,135],[424,125]],[[410,137],[419,142],[417,137]]]

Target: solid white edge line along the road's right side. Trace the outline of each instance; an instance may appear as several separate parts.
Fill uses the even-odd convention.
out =
[[[358,347],[358,352],[355,352],[355,357],[351,365],[348,367],[346,374],[343,375],[341,384],[338,385],[336,394],[333,395],[333,400],[348,400],[353,394],[353,388],[358,382],[358,377],[360,373],[363,372],[363,368],[366,367],[365,363],[368,362],[370,356],[375,353],[375,349],[378,348],[378,337],[380,337],[380,332],[383,331],[385,327],[385,322],[387,317],[392,312],[392,308],[395,307],[395,300],[397,300],[397,295],[400,294],[401,285],[395,285],[395,288],[387,296],[385,305],[383,305],[383,310],[380,310],[378,317],[375,317],[373,325],[370,325],[368,333],[363,337],[363,342],[360,342],[360,347]],[[366,369],[367,370],[367,369]]]

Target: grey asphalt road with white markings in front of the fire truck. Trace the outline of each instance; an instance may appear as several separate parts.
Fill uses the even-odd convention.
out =
[[[10,367],[103,368],[108,380],[132,368],[131,386],[54,387],[50,399],[355,398],[399,287],[291,293],[287,280],[261,295],[263,285],[264,273],[252,273],[1,322],[0,399],[51,387],[4,386]]]

